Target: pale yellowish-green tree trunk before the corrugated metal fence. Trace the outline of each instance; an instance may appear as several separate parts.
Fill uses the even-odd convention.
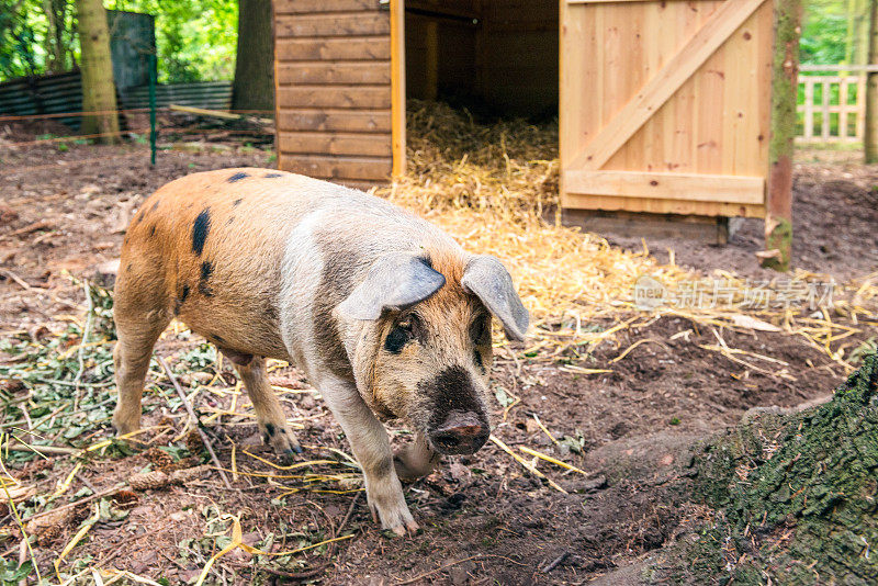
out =
[[[82,116],[82,134],[104,134],[100,139],[119,138],[116,90],[110,58],[110,30],[101,0],[77,0],[79,45],[82,58],[82,111],[98,112]]]

